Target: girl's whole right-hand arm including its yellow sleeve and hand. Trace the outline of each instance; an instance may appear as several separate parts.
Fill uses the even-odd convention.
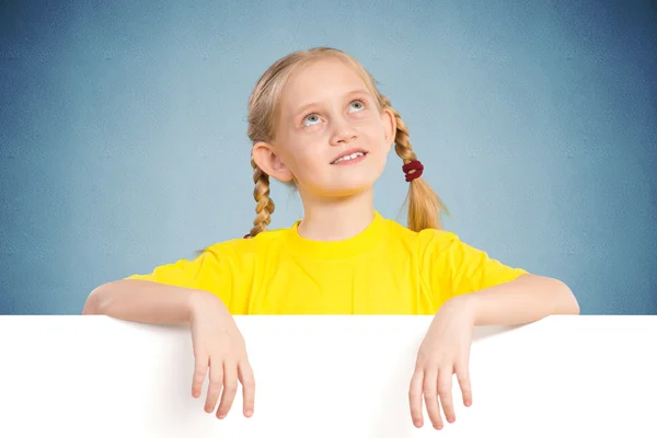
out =
[[[441,306],[419,347],[408,395],[415,425],[424,424],[424,395],[429,418],[440,429],[440,405],[447,420],[456,420],[453,373],[463,403],[472,404],[469,362],[475,325],[520,325],[551,314],[577,314],[579,306],[560,280],[506,266],[453,233],[429,235],[426,269]]]

